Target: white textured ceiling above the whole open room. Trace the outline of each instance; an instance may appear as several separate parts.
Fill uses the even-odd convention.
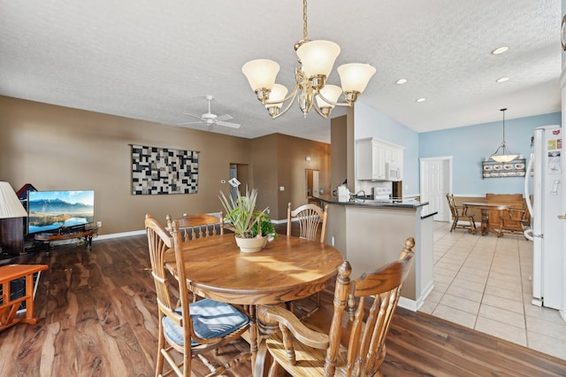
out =
[[[506,119],[561,109],[559,0],[308,6],[309,38],[340,45],[335,67],[377,68],[359,101],[417,132],[498,121],[502,107]],[[296,104],[272,120],[241,73],[248,60],[272,58],[291,87],[301,0],[0,0],[0,9],[0,95],[176,125],[193,120],[183,112],[206,112],[210,94],[212,112],[241,128],[196,129],[330,141],[329,120],[303,119]],[[501,45],[510,50],[490,53]]]

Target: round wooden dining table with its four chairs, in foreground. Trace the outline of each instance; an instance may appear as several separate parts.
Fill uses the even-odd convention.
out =
[[[314,229],[314,235],[291,235],[291,214],[299,221],[311,221],[313,213],[318,213],[317,223],[325,224],[322,219],[327,207],[302,207],[308,216],[292,212],[289,204],[287,235],[278,235],[256,253],[241,252],[234,235],[221,227],[221,219],[185,216],[209,221],[202,226],[168,217],[166,229],[146,216],[159,309],[156,375],[165,369],[180,376],[191,375],[194,357],[209,366],[209,375],[221,374],[249,360],[256,376],[277,375],[280,368],[299,376],[307,370],[310,375],[342,375],[348,368],[350,372],[356,368],[368,375],[377,373],[385,358],[383,347],[389,323],[412,265],[414,240],[407,239],[404,247],[400,242],[400,259],[355,279],[349,276],[351,267],[340,251],[325,244],[324,229],[320,232],[316,227],[301,225],[301,229]],[[187,230],[180,224],[191,225],[197,231],[191,229],[187,239]],[[321,326],[318,331],[306,327],[302,321],[316,318],[317,311],[295,311],[298,306],[294,303],[316,296],[334,283],[332,324],[317,323]],[[175,290],[167,287],[178,288],[180,306],[173,299]],[[190,302],[189,293],[195,297]],[[364,305],[371,301],[375,303],[367,317]],[[343,315],[349,318],[353,334],[357,334],[350,342],[363,344],[352,343],[346,348],[340,345]],[[249,342],[249,352],[225,365],[210,365],[203,358],[204,352],[240,337]],[[299,358],[301,362],[297,362]]]

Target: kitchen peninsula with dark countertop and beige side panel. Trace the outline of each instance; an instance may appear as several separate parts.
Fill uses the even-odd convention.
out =
[[[352,265],[352,277],[399,258],[405,239],[415,238],[415,263],[402,289],[399,302],[417,311],[433,288],[433,220],[427,202],[339,202],[333,196],[318,197],[329,204],[325,242],[340,250]]]

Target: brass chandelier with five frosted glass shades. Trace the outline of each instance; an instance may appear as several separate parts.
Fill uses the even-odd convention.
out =
[[[326,85],[326,78],[333,70],[334,61],[340,54],[340,46],[330,41],[310,41],[307,36],[307,0],[302,1],[302,40],[294,44],[299,66],[295,68],[295,83],[287,96],[287,88],[276,84],[279,64],[269,59],[251,60],[241,67],[249,86],[256,92],[257,99],[264,104],[272,119],[285,114],[294,99],[301,108],[304,118],[311,108],[322,117],[327,118],[334,106],[351,106],[363,93],[375,73],[371,65],[349,63],[337,68],[340,75],[341,88]],[[338,103],[341,94],[345,103]],[[281,111],[283,104],[287,107]]]

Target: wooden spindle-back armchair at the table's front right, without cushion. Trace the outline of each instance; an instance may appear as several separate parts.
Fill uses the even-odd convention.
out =
[[[279,324],[281,331],[260,345],[255,375],[264,373],[265,352],[272,356],[269,375],[273,376],[279,375],[280,367],[297,377],[381,375],[386,335],[413,263],[414,247],[415,240],[409,237],[398,260],[354,281],[350,281],[351,266],[343,262],[330,323],[317,321],[316,327],[307,327],[282,307],[258,307],[258,319]]]

